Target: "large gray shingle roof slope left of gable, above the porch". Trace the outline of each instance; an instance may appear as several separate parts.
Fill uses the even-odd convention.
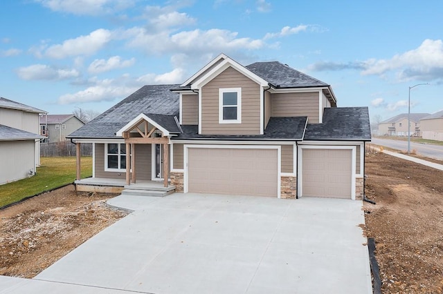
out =
[[[89,121],[69,138],[115,138],[120,128],[141,113],[179,115],[179,94],[171,88],[179,85],[143,86],[132,95]]]

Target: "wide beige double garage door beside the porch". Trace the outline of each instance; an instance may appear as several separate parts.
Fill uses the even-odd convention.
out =
[[[278,150],[188,148],[188,190],[277,197]]]

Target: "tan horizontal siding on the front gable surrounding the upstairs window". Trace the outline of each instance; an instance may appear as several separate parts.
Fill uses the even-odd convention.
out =
[[[219,124],[219,89],[242,88],[242,123]],[[226,68],[201,89],[201,134],[260,135],[260,85]]]

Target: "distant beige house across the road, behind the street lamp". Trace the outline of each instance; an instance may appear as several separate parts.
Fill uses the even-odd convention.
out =
[[[422,137],[420,130],[420,119],[429,113],[410,113],[410,135]],[[407,136],[408,135],[408,113],[401,113],[379,124],[379,135],[383,136]]]

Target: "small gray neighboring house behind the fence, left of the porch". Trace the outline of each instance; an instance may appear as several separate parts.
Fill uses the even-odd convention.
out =
[[[84,122],[75,115],[41,115],[40,135],[46,137],[42,143],[65,141],[66,136],[84,126]]]

